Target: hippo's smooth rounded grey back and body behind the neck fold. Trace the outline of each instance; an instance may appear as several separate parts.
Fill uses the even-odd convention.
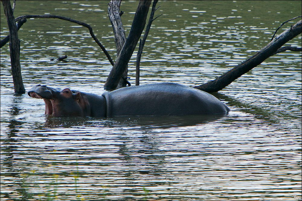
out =
[[[107,116],[212,115],[230,111],[204,91],[176,84],[153,83],[105,92]]]

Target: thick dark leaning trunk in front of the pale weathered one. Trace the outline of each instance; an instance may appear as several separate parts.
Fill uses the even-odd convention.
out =
[[[145,27],[150,4],[150,0],[141,0],[139,2],[129,35],[117,57],[117,61],[111,69],[106,83],[104,84],[105,90],[112,91],[116,89]]]

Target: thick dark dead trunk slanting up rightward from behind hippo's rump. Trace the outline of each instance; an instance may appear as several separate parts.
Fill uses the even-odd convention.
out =
[[[236,80],[241,75],[252,70],[254,67],[261,64],[265,59],[274,55],[277,51],[280,51],[281,46],[286,42],[293,39],[301,33],[301,20],[298,21],[295,25],[291,26],[274,40],[268,43],[264,48],[257,52],[252,57],[246,59],[241,64],[237,65],[235,68],[226,72],[222,76],[216,78],[213,81],[205,83],[200,86],[194,86],[194,88],[212,93],[222,90],[224,87],[228,86],[234,80]]]

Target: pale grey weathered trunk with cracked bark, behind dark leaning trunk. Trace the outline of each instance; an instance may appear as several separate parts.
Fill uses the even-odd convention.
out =
[[[123,28],[123,23],[120,18],[122,14],[122,12],[120,12],[121,2],[122,2],[121,0],[111,0],[110,3],[108,4],[108,16],[113,28],[114,42],[116,46],[117,56],[120,54],[120,50],[122,49],[126,41],[126,35]],[[128,75],[128,64],[122,76],[126,78],[127,75]],[[125,82],[124,79],[121,78],[117,88],[121,88],[125,86],[127,86],[127,83]]]

